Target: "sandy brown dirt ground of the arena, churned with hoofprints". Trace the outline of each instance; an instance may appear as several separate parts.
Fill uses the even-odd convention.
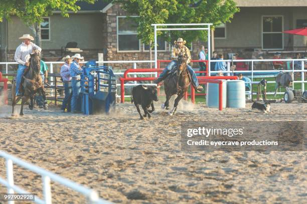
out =
[[[184,102],[183,102],[184,103]],[[185,121],[306,121],[307,103],[272,104],[264,114],[246,108],[218,111],[183,104],[169,116],[156,104],[149,120],[134,105],[111,115],[62,113],[26,107],[12,118],[0,106],[0,149],[77,183],[115,203],[303,203],[306,151],[181,151]],[[4,166],[4,159],[0,159]],[[16,166],[16,184],[41,196],[41,177]],[[5,176],[5,168],[0,176]],[[0,194],[6,192],[0,185]],[[52,183],[53,203],[84,203]],[[0,199],[0,202],[1,201]]]

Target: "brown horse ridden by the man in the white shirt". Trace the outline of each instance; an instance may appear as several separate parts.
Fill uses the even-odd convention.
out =
[[[23,76],[23,82],[22,85],[24,86],[24,96],[22,96],[22,105],[20,109],[20,115],[24,115],[23,109],[25,102],[30,98],[30,104],[29,108],[33,109],[33,97],[36,92],[41,92],[43,95],[43,98],[45,100],[44,108],[47,109],[47,100],[46,100],[46,94],[44,90],[44,82],[42,79],[42,76],[40,75],[40,69],[41,69],[41,59],[39,54],[31,54],[30,58],[30,66],[29,70]],[[13,86],[12,86],[12,116],[16,116],[14,113],[14,107],[16,103],[19,101],[20,97],[16,96],[16,81],[14,80]]]

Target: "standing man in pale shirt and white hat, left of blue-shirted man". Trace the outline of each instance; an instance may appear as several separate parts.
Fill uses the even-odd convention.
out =
[[[64,84],[64,99],[62,102],[61,110],[62,112],[65,112],[65,109],[67,109],[67,112],[70,112],[70,100],[71,100],[71,76],[70,76],[70,64],[72,58],[67,55],[62,58],[63,61],[65,61],[65,64],[61,66],[61,76],[63,79]]]

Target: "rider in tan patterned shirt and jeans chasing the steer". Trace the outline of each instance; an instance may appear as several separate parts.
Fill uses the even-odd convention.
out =
[[[192,85],[194,86],[194,88],[197,91],[199,91],[199,92],[203,91],[204,88],[201,85],[199,85],[195,71],[188,64],[191,61],[191,53],[190,53],[189,48],[187,46],[185,46],[186,40],[183,40],[183,38],[179,37],[177,39],[177,41],[176,40],[174,41],[174,43],[175,43],[175,46],[173,46],[173,49],[172,49],[172,59],[173,60],[163,70],[163,72],[160,74],[159,78],[154,80],[154,83],[160,83],[161,81],[163,81],[168,76],[168,72],[177,66],[178,56],[179,56],[179,54],[181,54],[181,55],[184,55],[187,58],[187,68],[188,68],[190,74],[192,75]]]

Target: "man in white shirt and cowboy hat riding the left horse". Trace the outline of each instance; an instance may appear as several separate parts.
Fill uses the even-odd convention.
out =
[[[23,39],[23,42],[16,48],[15,52],[15,61],[18,62],[18,70],[16,77],[16,95],[21,96],[21,92],[19,91],[20,83],[22,80],[22,76],[27,66],[30,65],[29,59],[30,54],[36,52],[41,52],[42,48],[31,42],[34,38],[30,34],[24,34],[19,37],[19,39]]]

